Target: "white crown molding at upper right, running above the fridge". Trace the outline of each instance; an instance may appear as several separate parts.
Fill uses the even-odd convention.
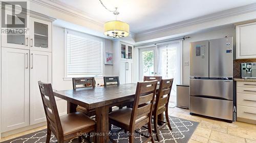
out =
[[[153,35],[156,33],[162,33],[166,32],[169,30],[173,30],[175,28],[182,28],[190,25],[195,25],[195,24],[201,24],[209,21],[214,21],[214,20],[219,20],[223,18],[228,18],[236,15],[241,15],[249,12],[254,12],[256,11],[256,3],[250,4],[250,5],[245,5],[237,8],[232,8],[228,10],[224,10],[221,12],[213,13],[213,14],[208,14],[205,16],[189,19],[189,20],[184,20],[181,22],[153,28],[151,30],[146,30],[140,33],[136,33],[135,37],[141,37],[141,36],[147,36],[147,35]],[[256,17],[255,17],[256,18]]]

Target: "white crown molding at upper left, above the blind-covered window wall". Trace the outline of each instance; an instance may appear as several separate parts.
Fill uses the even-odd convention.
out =
[[[88,22],[91,22],[100,26],[103,26],[104,24],[102,21],[97,21],[94,18],[88,16],[89,15],[88,13],[79,11],[71,6],[67,6],[58,0],[30,0],[30,2],[56,10],[58,12],[70,15],[72,17],[86,20]]]

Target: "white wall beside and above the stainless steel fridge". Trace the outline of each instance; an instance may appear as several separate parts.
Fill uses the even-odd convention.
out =
[[[213,28],[208,32],[198,33],[193,35],[187,35],[191,38],[183,41],[183,84],[189,83],[189,66],[184,66],[185,62],[189,62],[189,47],[190,42],[202,41],[202,40],[210,40],[210,39],[218,39],[227,37],[233,37],[233,43],[236,40],[236,30],[233,26],[225,26],[222,28]]]

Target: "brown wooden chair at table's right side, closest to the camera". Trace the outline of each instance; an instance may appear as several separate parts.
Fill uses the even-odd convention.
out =
[[[129,142],[134,143],[135,130],[141,128],[143,125],[147,124],[149,136],[148,141],[154,142],[152,137],[152,110],[154,103],[154,95],[156,93],[157,80],[155,81],[145,81],[138,82],[137,89],[134,99],[133,108],[123,108],[115,110],[109,115],[109,122],[117,127],[129,131]],[[115,142],[110,138],[112,142]]]

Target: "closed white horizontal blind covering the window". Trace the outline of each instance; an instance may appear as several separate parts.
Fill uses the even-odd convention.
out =
[[[67,76],[102,74],[102,41],[67,34]]]

